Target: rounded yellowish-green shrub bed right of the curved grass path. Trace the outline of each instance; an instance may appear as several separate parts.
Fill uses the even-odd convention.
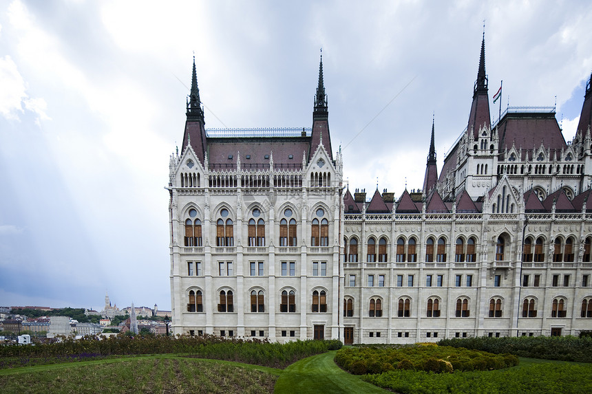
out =
[[[355,375],[384,373],[396,369],[452,373],[454,371],[489,371],[518,364],[511,354],[440,346],[410,346],[400,348],[357,347],[341,349],[335,355],[341,368]]]

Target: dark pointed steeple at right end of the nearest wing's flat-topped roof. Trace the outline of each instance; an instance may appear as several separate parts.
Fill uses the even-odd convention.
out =
[[[321,63],[319,64],[319,84],[315,94],[315,109],[313,111],[313,131],[310,133],[310,145],[308,146],[308,161],[317,151],[319,145],[323,145],[329,157],[333,158],[331,150],[331,135],[329,133],[329,112],[327,109],[327,95],[323,80],[323,50],[321,50]]]

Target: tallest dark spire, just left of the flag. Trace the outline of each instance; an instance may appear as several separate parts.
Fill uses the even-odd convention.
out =
[[[481,56],[477,80],[473,88],[473,103],[469,114],[467,132],[473,132],[474,138],[478,138],[479,129],[483,127],[491,130],[491,116],[489,115],[489,96],[487,94],[487,74],[485,74],[485,32],[481,41]]]

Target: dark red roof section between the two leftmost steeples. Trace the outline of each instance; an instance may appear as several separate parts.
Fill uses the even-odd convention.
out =
[[[209,164],[211,168],[235,167],[237,153],[240,152],[242,168],[269,168],[269,157],[273,153],[275,168],[302,168],[302,155],[308,152],[309,140],[308,137],[208,138]],[[231,159],[229,155],[232,155]],[[250,158],[247,159],[246,155]],[[269,157],[266,159],[265,155]]]

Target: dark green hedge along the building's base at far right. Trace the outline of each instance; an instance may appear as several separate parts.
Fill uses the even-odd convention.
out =
[[[592,362],[592,338],[575,336],[519,336],[490,338],[452,338],[441,346],[464,347],[489,353],[513,353],[520,357],[547,360]]]

